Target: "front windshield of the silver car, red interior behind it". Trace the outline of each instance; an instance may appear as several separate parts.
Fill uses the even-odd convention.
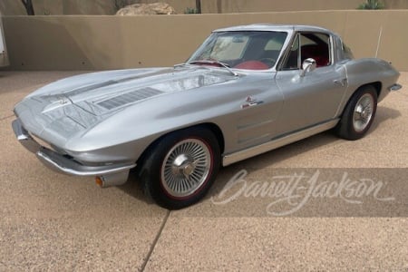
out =
[[[286,38],[286,32],[216,32],[189,58],[188,63],[267,70],[277,63]]]

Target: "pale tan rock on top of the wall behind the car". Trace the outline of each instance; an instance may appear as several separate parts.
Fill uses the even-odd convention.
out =
[[[121,8],[116,15],[175,15],[176,10],[167,3],[133,4]]]

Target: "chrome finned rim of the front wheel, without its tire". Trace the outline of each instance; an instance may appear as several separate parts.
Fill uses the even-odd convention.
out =
[[[160,169],[161,185],[172,198],[189,197],[209,180],[212,165],[212,153],[206,142],[199,139],[179,141],[164,157]]]

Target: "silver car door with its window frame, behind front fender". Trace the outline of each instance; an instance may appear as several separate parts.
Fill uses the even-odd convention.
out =
[[[284,95],[277,136],[334,119],[343,100],[345,66],[336,64],[330,35],[297,33],[276,82]],[[303,73],[304,60],[316,60],[316,70]]]

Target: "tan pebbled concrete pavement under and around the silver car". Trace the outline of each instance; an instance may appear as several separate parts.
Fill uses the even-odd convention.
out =
[[[403,90],[379,104],[364,139],[325,132],[238,162],[220,171],[206,199],[171,212],[136,182],[99,189],[91,178],[54,173],[15,140],[15,102],[76,73],[0,72],[0,271],[408,269],[408,73]],[[250,186],[302,168],[335,179],[336,170],[364,173],[388,183],[381,197],[393,200],[367,199],[354,210],[342,199],[315,199],[287,217],[268,214],[271,199],[259,194],[217,204],[240,170]]]

